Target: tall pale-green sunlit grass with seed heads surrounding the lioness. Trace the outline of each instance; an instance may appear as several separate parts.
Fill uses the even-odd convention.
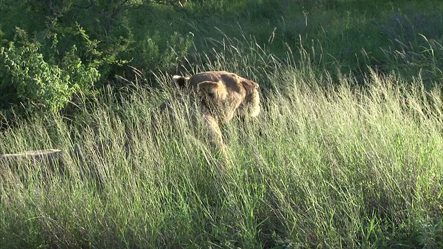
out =
[[[169,75],[156,76],[165,91],[35,118],[2,131],[0,152],[53,147],[63,164],[1,165],[0,247],[443,246],[441,89],[374,71],[357,86],[318,73],[302,47],[299,64],[226,41],[192,70],[236,71],[267,89],[260,116],[224,127],[227,160],[186,123],[164,122],[170,136],[154,145],[150,117],[174,91]]]

